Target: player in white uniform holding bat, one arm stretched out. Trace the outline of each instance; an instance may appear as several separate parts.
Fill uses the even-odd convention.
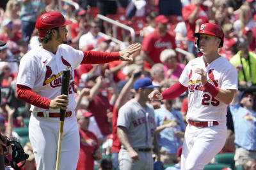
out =
[[[140,44],[133,44],[113,53],[76,50],[65,45],[65,25],[71,23],[58,11],[41,15],[36,20],[36,28],[42,46],[29,51],[20,60],[17,97],[31,104],[29,140],[35,153],[38,170],[55,169],[60,108],[66,110],[60,169],[76,169],[79,157],[79,131],[75,115],[74,69],[79,64],[132,60],[129,56],[140,50]],[[71,71],[68,96],[61,95],[61,77],[64,69]]]

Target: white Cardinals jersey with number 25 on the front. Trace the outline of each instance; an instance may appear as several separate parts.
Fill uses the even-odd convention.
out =
[[[215,120],[224,124],[227,120],[227,104],[205,92],[200,75],[195,73],[198,67],[205,69],[209,83],[219,89],[237,90],[237,71],[224,57],[218,57],[208,66],[205,66],[203,57],[198,57],[186,65],[179,78],[180,83],[189,90],[187,118],[195,121]]]

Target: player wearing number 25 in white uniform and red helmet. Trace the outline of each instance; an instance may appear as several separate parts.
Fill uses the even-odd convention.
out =
[[[205,23],[194,36],[204,55],[187,64],[175,85],[162,93],[154,90],[148,96],[151,100],[173,99],[189,90],[182,170],[204,169],[223,148],[227,105],[237,91],[236,69],[218,54],[218,48],[223,46],[221,27]]]

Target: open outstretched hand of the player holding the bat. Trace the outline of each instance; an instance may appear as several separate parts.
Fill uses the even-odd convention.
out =
[[[140,43],[129,45],[127,48],[119,52],[120,60],[132,61],[133,59],[130,58],[130,55],[140,50],[140,48],[141,48]]]

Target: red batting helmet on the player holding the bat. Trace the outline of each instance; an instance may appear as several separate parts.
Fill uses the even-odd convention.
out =
[[[38,29],[39,38],[44,38],[49,29],[71,24],[72,21],[65,20],[64,16],[58,11],[50,11],[42,14],[36,20],[36,29]]]

